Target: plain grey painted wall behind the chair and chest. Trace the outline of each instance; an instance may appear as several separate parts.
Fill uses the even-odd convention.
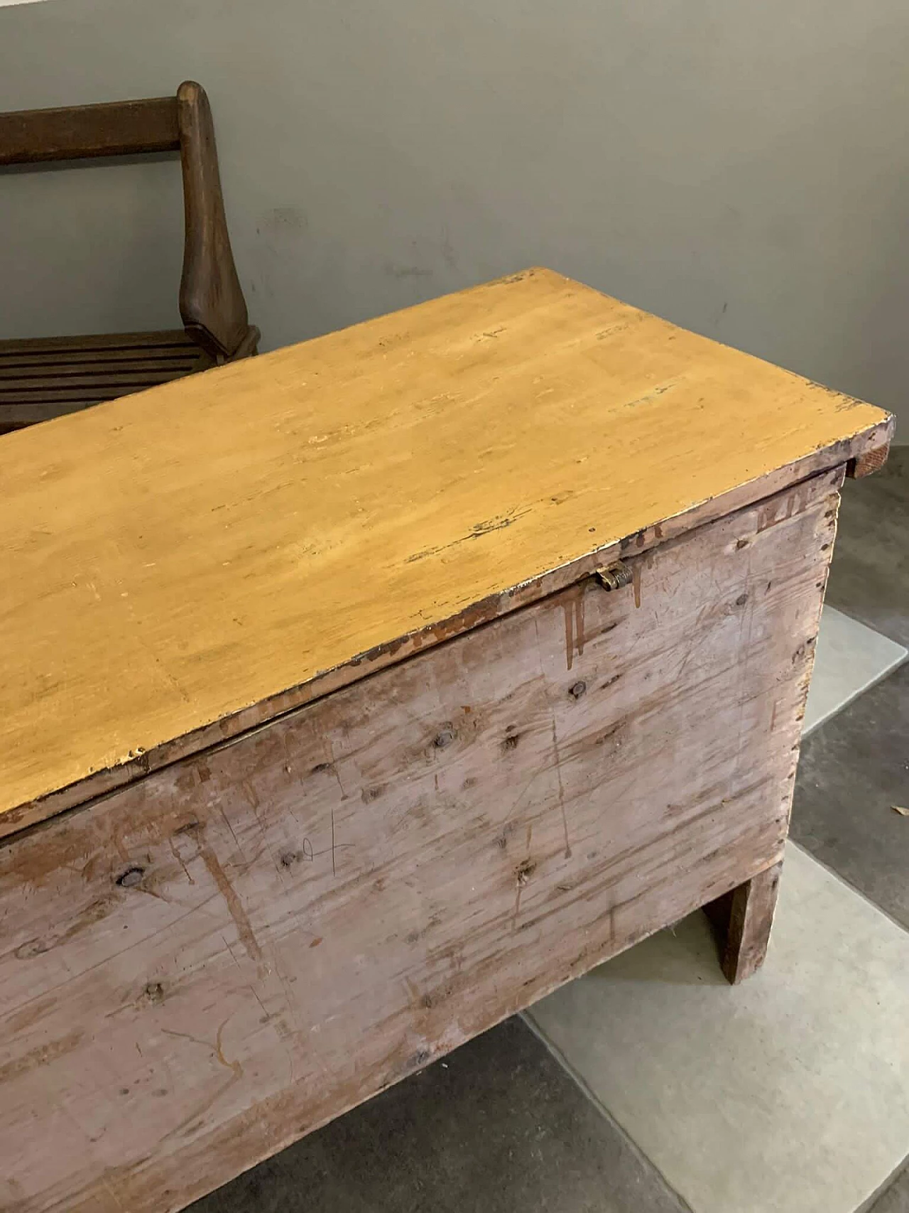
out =
[[[905,0],[47,0],[0,109],[212,99],[270,348],[532,263],[903,414]],[[177,324],[177,165],[6,171],[0,334]]]

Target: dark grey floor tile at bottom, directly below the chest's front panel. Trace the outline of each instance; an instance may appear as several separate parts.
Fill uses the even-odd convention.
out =
[[[193,1213],[680,1213],[510,1019],[240,1175]]]

